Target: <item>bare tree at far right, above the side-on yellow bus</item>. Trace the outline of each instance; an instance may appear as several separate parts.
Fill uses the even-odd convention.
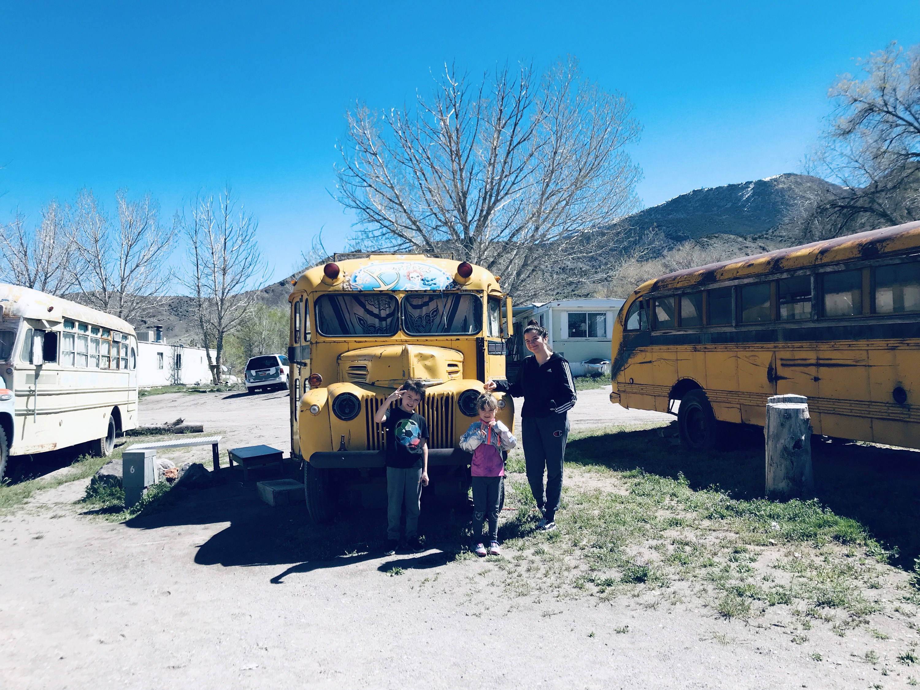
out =
[[[810,235],[839,236],[920,213],[920,46],[895,42],[831,86],[834,110],[808,167],[843,189],[816,205]]]

